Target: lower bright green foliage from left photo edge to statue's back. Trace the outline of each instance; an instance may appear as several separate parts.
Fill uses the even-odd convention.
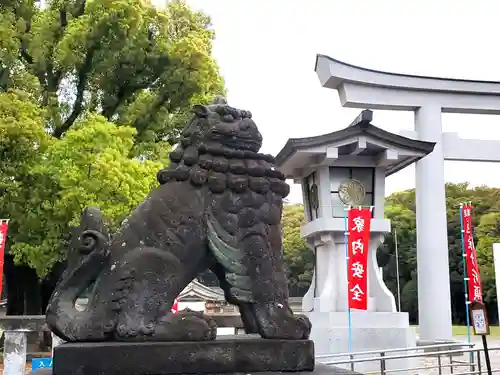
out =
[[[9,251],[40,276],[64,259],[69,225],[86,206],[102,207],[116,226],[153,187],[162,166],[129,157],[132,127],[89,115],[56,139],[45,131],[40,109],[11,93],[0,94],[0,134]]]

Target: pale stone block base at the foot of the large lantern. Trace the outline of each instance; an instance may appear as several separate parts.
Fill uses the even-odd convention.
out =
[[[349,329],[347,312],[309,312],[306,313],[312,323],[311,339],[314,341],[318,362],[348,360],[348,356],[324,358],[324,355],[349,352]],[[352,349],[353,352],[371,351],[416,346],[416,334],[409,326],[407,313],[383,313],[352,311]],[[404,355],[405,352],[387,353]],[[354,359],[373,358],[380,354],[355,355]],[[390,369],[411,368],[415,359],[388,360],[385,367]],[[348,364],[338,365],[350,368]],[[380,372],[380,362],[356,363],[356,371],[360,373]],[[398,372],[405,374],[405,372]]]

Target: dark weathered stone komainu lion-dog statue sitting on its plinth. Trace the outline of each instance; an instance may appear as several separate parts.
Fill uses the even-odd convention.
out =
[[[112,236],[88,208],[68,252],[68,268],[47,308],[66,341],[213,340],[209,316],[171,313],[174,299],[210,269],[247,333],[306,339],[309,320],[288,305],[281,213],[289,193],[250,112],[218,99],[194,116],[158,173],[160,186]],[[76,299],[90,289],[84,311]]]

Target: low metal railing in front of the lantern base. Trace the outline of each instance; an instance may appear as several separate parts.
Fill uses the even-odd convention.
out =
[[[426,345],[412,348],[397,348],[387,350],[372,350],[352,353],[338,353],[332,355],[317,355],[318,362],[328,366],[349,367],[356,371],[356,364],[373,364],[378,371],[365,372],[365,374],[454,374],[454,375],[480,375],[486,374],[484,365],[484,351],[482,348],[474,348],[474,344],[467,343],[445,343],[437,345]],[[489,349],[490,353],[500,351],[500,347]],[[406,352],[404,354],[396,354]],[[413,353],[408,353],[413,352]],[[361,357],[363,356],[363,357]],[[457,359],[456,357],[465,357]],[[348,359],[339,359],[347,357]],[[407,368],[389,368],[388,363],[397,360],[420,360],[419,365]],[[427,363],[422,363],[424,360]],[[429,363],[434,360],[434,363]],[[492,373],[500,373],[499,364],[492,362]]]

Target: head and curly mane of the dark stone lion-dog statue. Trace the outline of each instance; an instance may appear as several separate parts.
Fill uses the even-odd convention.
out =
[[[282,198],[288,195],[290,187],[283,173],[275,169],[274,157],[258,152],[262,136],[249,111],[215,103],[196,106],[194,112],[179,145],[169,155],[171,165],[158,172],[161,185],[189,180],[194,187],[207,186],[215,194],[226,189],[236,193],[250,189],[259,194],[272,191]],[[241,123],[255,129],[252,139],[238,140],[234,128]],[[228,145],[224,142],[227,139],[233,139],[233,143]]]

